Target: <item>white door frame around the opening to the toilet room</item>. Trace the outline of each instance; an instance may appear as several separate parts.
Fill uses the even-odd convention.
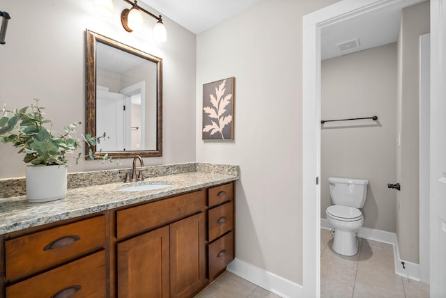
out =
[[[321,292],[321,30],[332,24],[380,10],[411,6],[424,0],[343,0],[303,17],[302,150],[303,150],[303,294]],[[441,1],[441,0],[431,0]],[[431,70],[433,71],[433,70]],[[432,269],[432,267],[431,267]]]

